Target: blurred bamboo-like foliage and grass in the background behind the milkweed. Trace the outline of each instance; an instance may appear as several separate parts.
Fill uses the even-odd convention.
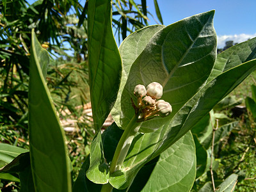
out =
[[[163,24],[154,1],[156,24]],[[84,158],[90,152],[94,136],[88,86],[87,11],[88,0],[1,0],[0,1],[0,143],[28,148],[28,81],[31,29],[35,28],[42,47],[49,51],[51,63],[47,71],[47,86],[60,116],[68,142],[68,152],[76,178]],[[133,31],[148,25],[147,1],[113,0],[113,33],[120,44]],[[227,42],[218,53],[231,47]],[[214,108],[207,140],[193,132],[197,141],[198,161],[192,191],[211,188],[209,157],[216,184],[232,173],[239,175],[236,191],[256,190],[255,117],[247,111],[245,98],[252,97],[251,84],[256,84],[254,72],[229,95],[231,99]],[[242,106],[237,109],[237,104]],[[238,113],[237,113],[238,111]],[[216,124],[216,122],[220,124]],[[230,125],[230,126],[228,126]],[[212,143],[212,130],[218,138]],[[225,128],[226,127],[226,128]],[[207,133],[207,132],[206,132]],[[204,135],[205,136],[205,135]],[[199,148],[198,148],[199,147]],[[199,154],[199,152],[201,152]],[[198,159],[199,160],[199,159]],[[206,162],[206,163],[205,163]],[[208,162],[208,163],[207,163]],[[210,183],[210,184],[209,184]],[[1,180],[2,191],[19,191],[19,183]]]

